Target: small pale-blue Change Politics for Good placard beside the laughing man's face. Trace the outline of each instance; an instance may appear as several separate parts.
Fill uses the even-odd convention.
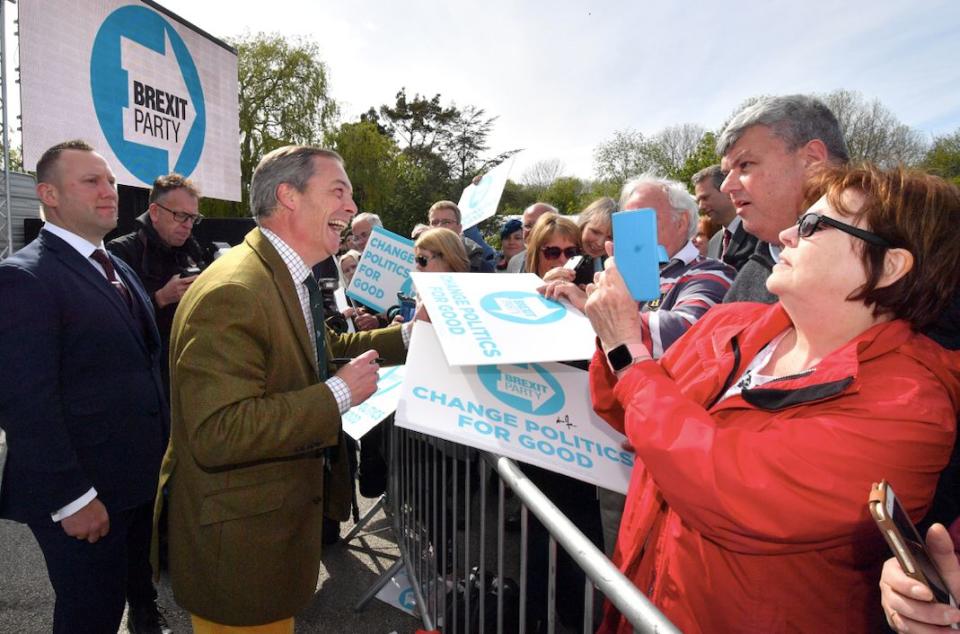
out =
[[[410,271],[415,268],[413,240],[374,227],[347,287],[347,296],[385,313],[397,304],[397,293],[413,294]]]

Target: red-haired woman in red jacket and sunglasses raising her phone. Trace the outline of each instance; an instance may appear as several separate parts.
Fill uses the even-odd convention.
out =
[[[917,330],[960,280],[960,192],[832,168],[807,200],[780,301],[714,307],[659,363],[616,265],[589,289],[594,408],[637,455],[615,561],[684,632],[879,627],[870,485],[917,520],[953,446],[960,363]]]

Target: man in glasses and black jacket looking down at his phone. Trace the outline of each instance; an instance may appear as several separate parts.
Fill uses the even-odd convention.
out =
[[[136,220],[137,230],[111,240],[107,249],[140,276],[157,312],[163,341],[163,384],[170,392],[167,353],[170,328],[180,298],[213,255],[191,234],[203,216],[200,191],[179,174],[160,176],[150,190],[150,206]]]

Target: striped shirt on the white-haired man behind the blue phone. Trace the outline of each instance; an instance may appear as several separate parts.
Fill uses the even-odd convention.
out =
[[[643,343],[654,359],[707,309],[723,302],[736,273],[719,260],[701,256],[692,242],[673,256],[660,270],[660,299],[640,307]]]

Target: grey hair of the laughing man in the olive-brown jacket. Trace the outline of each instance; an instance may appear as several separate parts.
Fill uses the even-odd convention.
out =
[[[343,165],[336,152],[306,145],[277,148],[260,159],[250,179],[250,214],[258,224],[276,210],[280,185],[286,183],[298,192],[307,188],[307,181],[316,171],[314,157],[333,159]]]

